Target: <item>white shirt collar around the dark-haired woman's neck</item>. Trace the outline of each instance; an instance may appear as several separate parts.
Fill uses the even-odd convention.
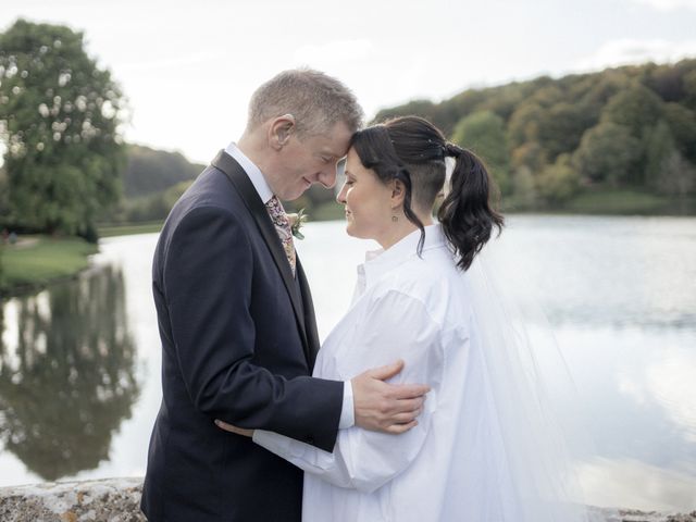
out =
[[[358,266],[358,277],[362,290],[370,287],[383,275],[390,272],[413,256],[418,256],[418,241],[421,239],[421,231],[411,234],[389,247],[388,249],[372,250],[365,253],[365,262]],[[425,227],[425,240],[423,252],[442,247],[446,244],[443,226],[439,223]]]

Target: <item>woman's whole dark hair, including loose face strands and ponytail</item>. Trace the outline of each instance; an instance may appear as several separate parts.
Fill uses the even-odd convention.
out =
[[[493,179],[476,156],[447,141],[432,123],[418,116],[389,120],[353,134],[355,148],[365,169],[371,169],[383,183],[399,179],[406,189],[403,214],[421,229],[418,245],[423,250],[425,231],[412,210],[432,209],[445,184],[445,158],[455,159],[450,190],[437,217],[445,237],[457,256],[457,266],[469,269],[490,239],[493,227],[502,229],[504,217],[490,207],[495,190]]]

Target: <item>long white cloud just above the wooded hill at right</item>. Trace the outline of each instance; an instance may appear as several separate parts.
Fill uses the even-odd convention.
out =
[[[593,54],[581,59],[576,64],[576,69],[595,71],[649,61],[658,63],[675,62],[694,55],[696,55],[696,40],[620,39],[609,41]]]

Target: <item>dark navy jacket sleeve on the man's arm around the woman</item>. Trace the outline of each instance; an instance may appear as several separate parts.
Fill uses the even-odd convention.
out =
[[[162,293],[181,375],[195,407],[213,419],[270,430],[331,451],[344,384],[284,378],[252,363],[252,250],[233,212],[189,211],[165,248]]]

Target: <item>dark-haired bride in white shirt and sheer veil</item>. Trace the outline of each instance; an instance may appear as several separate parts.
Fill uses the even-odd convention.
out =
[[[504,224],[490,191],[482,162],[420,117],[352,137],[337,200],[348,234],[382,249],[359,266],[353,303],[322,346],[314,376],[346,380],[400,358],[398,381],[432,391],[412,430],[341,430],[331,453],[219,422],[306,471],[302,520],[588,520],[572,502],[564,440],[530,346],[478,259]]]

